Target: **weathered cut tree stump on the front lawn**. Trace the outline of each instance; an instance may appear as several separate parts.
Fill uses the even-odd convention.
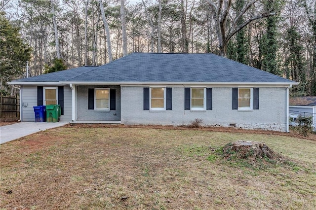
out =
[[[233,155],[240,159],[276,159],[277,154],[270,149],[264,142],[244,141],[239,140],[233,143],[228,143],[223,148],[227,158]]]

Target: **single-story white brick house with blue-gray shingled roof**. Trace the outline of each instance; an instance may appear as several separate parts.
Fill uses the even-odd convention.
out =
[[[21,120],[61,105],[61,121],[190,124],[288,131],[293,81],[214,54],[133,53],[101,67],[13,80]]]

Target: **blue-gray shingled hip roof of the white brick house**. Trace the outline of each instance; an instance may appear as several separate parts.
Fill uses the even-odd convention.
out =
[[[80,67],[17,81],[293,82],[210,53],[132,53],[100,67]]]

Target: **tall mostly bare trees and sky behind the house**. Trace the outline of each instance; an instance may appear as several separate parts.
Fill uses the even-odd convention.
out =
[[[214,53],[297,82],[316,96],[315,0],[0,0],[7,81],[132,52]]]

